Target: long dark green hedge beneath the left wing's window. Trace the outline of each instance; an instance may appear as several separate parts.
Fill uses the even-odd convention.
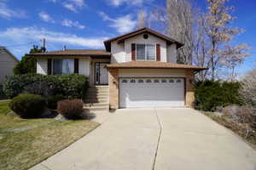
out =
[[[12,99],[21,93],[44,97],[62,95],[66,99],[81,99],[88,88],[88,78],[83,75],[24,74],[9,77],[3,82],[3,93]]]

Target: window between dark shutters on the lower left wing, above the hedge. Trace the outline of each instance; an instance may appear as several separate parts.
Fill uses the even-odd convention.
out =
[[[68,75],[73,74],[73,59],[54,59],[53,60],[53,74],[54,75]]]

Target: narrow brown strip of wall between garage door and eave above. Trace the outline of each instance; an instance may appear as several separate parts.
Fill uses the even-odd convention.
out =
[[[170,69],[119,69],[119,77],[185,77],[185,71]]]

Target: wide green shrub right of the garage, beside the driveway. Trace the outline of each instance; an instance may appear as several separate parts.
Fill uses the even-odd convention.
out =
[[[239,82],[205,81],[195,83],[195,107],[203,111],[215,111],[226,105],[241,105]]]

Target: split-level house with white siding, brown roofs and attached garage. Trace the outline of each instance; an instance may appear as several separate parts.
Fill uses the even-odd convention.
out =
[[[88,76],[91,86],[108,85],[111,109],[193,107],[194,75],[204,68],[177,64],[177,48],[183,43],[143,28],[109,39],[104,45],[105,50],[33,54],[38,60],[37,72],[78,73]]]

